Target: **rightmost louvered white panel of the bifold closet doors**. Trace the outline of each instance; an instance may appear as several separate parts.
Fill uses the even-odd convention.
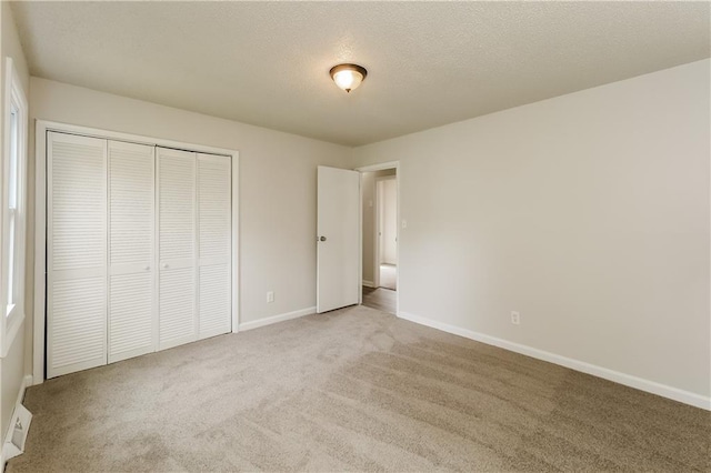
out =
[[[198,154],[199,338],[231,331],[230,158]]]

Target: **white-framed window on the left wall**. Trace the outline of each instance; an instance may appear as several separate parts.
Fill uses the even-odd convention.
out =
[[[28,145],[27,95],[12,63],[12,58],[6,58],[4,79],[4,109],[2,110],[4,114],[4,144],[2,148],[2,193],[0,197],[2,217],[0,356],[2,358],[8,354],[24,320]],[[13,153],[14,162],[12,160]],[[9,292],[10,290],[12,293]]]

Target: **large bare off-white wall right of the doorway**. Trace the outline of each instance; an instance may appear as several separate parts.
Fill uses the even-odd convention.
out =
[[[400,311],[708,402],[710,67],[357,148],[400,160]]]

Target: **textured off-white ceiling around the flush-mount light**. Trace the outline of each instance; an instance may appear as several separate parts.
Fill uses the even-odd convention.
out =
[[[16,2],[33,76],[358,145],[709,58],[708,2]],[[350,94],[329,69],[364,66]]]

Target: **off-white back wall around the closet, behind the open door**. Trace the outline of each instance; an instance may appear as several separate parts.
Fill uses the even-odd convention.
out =
[[[316,305],[317,165],[342,168],[350,148],[44,79],[32,78],[30,87],[33,120],[239,150],[240,321]],[[274,291],[273,303],[267,291]]]

